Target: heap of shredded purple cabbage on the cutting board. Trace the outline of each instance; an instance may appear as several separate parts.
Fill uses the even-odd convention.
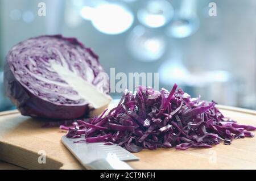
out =
[[[255,127],[227,120],[215,102],[200,100],[200,96],[191,98],[176,89],[176,84],[170,92],[140,86],[135,94],[125,92],[117,107],[106,116],[105,111],[99,117],[60,128],[68,129],[69,138],[85,136],[79,142],[118,144],[131,152],[211,148],[221,141],[230,145],[233,139],[254,136],[249,131],[255,131]]]

